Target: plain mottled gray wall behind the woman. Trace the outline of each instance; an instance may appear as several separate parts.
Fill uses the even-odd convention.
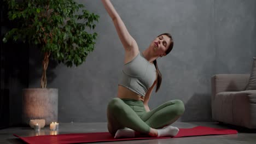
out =
[[[78,1],[99,14],[96,49],[79,67],[51,62],[48,87],[59,88],[59,122],[106,122],[108,101],[117,96],[124,50],[101,1]],[[140,51],[170,32],[173,51],[158,60],[162,85],[151,109],[181,99],[178,121],[211,121],[210,79],[219,73],[249,73],[256,56],[254,0],[112,1]],[[40,59],[30,51],[30,87],[39,87]]]

